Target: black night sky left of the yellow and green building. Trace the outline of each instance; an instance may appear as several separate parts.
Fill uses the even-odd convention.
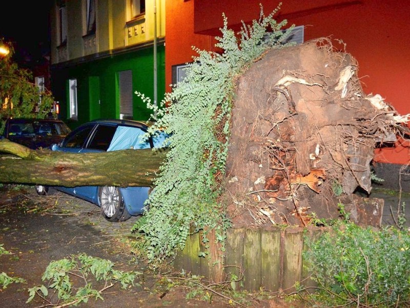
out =
[[[0,18],[0,38],[12,42],[15,62],[37,58],[50,50],[51,1],[11,1]]]

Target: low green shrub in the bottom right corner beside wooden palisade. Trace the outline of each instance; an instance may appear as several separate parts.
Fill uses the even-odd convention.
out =
[[[303,258],[319,286],[315,300],[357,307],[410,305],[407,230],[339,223],[308,247]]]

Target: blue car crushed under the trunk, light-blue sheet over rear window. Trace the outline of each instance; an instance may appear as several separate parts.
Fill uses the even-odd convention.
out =
[[[168,135],[161,131],[157,136],[144,138],[148,127],[149,123],[132,120],[95,120],[80,125],[51,149],[85,153],[163,147]],[[51,194],[54,189],[66,192],[98,205],[108,221],[125,221],[143,213],[151,187],[36,185],[35,189],[42,196]]]

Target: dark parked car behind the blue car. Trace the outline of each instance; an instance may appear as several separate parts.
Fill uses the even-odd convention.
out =
[[[7,119],[2,137],[31,149],[61,142],[71,129],[55,119]]]

